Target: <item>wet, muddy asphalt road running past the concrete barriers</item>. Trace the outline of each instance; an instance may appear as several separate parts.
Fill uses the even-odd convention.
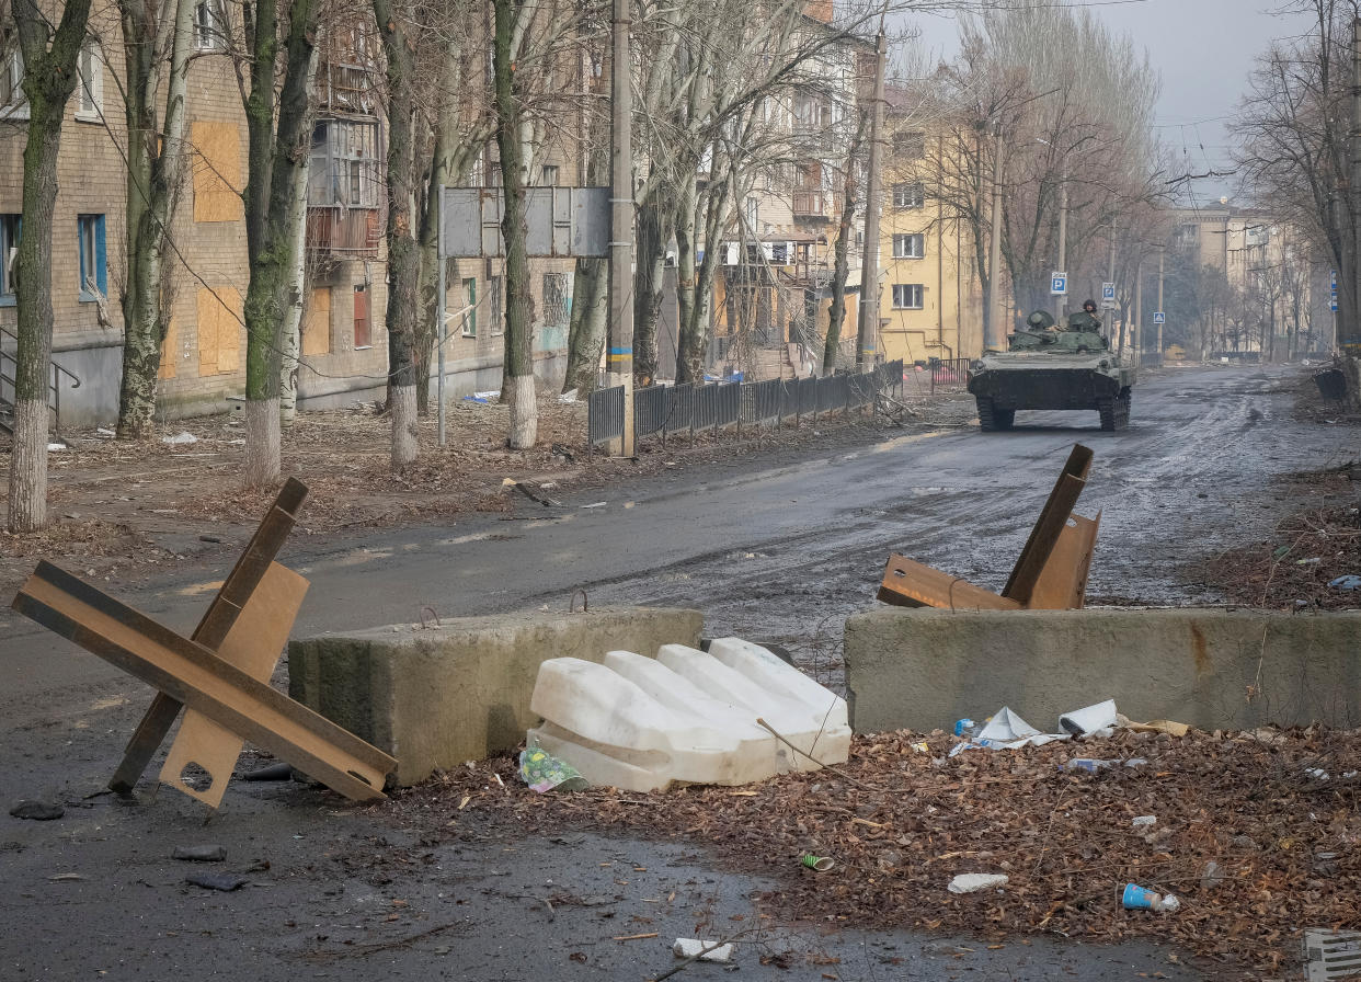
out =
[[[1187,592],[1179,564],[1267,534],[1292,509],[1273,475],[1353,455],[1341,430],[1292,417],[1296,379],[1282,369],[1168,370],[1135,390],[1121,433],[1100,432],[1096,413],[1021,414],[1009,433],[954,429],[803,460],[678,464],[562,508],[525,501],[512,520],[476,516],[324,543],[295,537],[282,558],[313,584],[295,633],[410,622],[422,606],[441,617],[565,609],[584,588],[593,605],[697,606],[709,633],[780,640],[834,682],[841,621],[872,602],[887,553],[999,588],[1074,443],[1096,452],[1079,512],[1102,513],[1089,594],[1213,602]],[[225,572],[185,568],[120,595],[189,629]],[[686,936],[697,910],[749,910],[758,888],[706,868],[702,853],[641,842],[425,849],[381,813],[293,785],[237,783],[207,823],[195,802],[152,795],[150,785],[136,804],[87,798],[117,763],[148,691],[10,612],[0,614],[0,802],[68,805],[53,823],[0,820],[0,978],[641,979],[670,967],[663,941]],[[226,843],[233,869],[256,866],[250,885],[184,885],[170,851],[204,840]],[[410,854],[411,872],[381,883],[344,859],[366,854]],[[649,928],[661,941],[610,941],[627,932],[591,904],[559,904],[546,919],[538,902],[547,881],[593,895],[608,888],[599,862],[612,855],[659,870],[656,883],[638,884],[649,896],[678,889],[679,902]],[[610,910],[623,914],[636,899]],[[815,941],[842,957],[842,979],[945,979],[965,966],[968,978],[1199,978],[1147,945],[1040,940],[961,960],[942,948],[947,941],[906,934],[789,938],[765,941]],[[573,951],[587,962],[569,960]],[[740,971],[798,975],[755,957]]]

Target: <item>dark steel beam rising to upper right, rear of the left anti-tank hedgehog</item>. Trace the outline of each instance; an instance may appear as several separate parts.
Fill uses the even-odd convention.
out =
[[[256,526],[245,550],[237,557],[237,563],[227,573],[222,588],[214,595],[212,603],[208,605],[203,620],[195,628],[195,642],[206,648],[218,648],[222,639],[231,631],[237,617],[241,616],[250,594],[260,584],[260,579],[269,569],[269,564],[283,548],[297,523],[298,511],[306,500],[308,486],[305,484],[297,478],[289,478],[283,482],[283,488],[279,489],[269,511]],[[122,752],[122,763],[118,764],[118,770],[109,780],[110,789],[120,794],[128,794],[136,787],[142,772],[147,770],[151,757],[155,756],[166,734],[170,733],[180,710],[178,701],[163,692],[157,693]]]

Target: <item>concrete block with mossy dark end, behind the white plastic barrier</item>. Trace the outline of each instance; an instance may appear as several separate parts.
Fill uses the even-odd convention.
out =
[[[539,718],[529,697],[550,658],[698,646],[704,616],[671,607],[463,617],[290,642],[289,692],[397,759],[396,783],[513,749]]]

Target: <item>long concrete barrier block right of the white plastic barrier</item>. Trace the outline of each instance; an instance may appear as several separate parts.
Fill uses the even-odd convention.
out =
[[[1358,636],[1361,613],[881,607],[847,621],[851,723],[932,730],[1009,706],[1045,730],[1115,699],[1209,730],[1357,726]]]

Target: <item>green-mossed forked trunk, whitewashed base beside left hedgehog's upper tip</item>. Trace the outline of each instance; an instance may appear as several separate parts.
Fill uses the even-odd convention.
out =
[[[280,477],[279,377],[280,326],[294,289],[294,229],[289,204],[297,169],[312,144],[312,78],[317,8],[314,0],[291,0],[287,65],[275,127],[275,59],[279,52],[275,0],[256,4],[250,91],[246,97],[249,173],[246,177],[246,459],[248,488],[276,484]]]

